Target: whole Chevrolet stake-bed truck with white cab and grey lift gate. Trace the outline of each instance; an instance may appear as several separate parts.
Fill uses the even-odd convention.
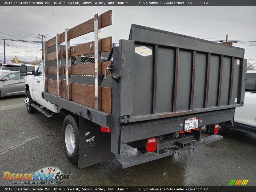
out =
[[[110,10],[45,41],[44,61],[26,81],[29,113],[66,115],[69,161],[82,168],[114,159],[125,145],[144,149],[118,159],[126,168],[222,139],[201,138],[201,127],[216,124],[218,133],[217,123],[232,122],[243,105],[245,50],[134,24],[115,46],[101,38],[111,24]],[[70,46],[93,31],[94,41]]]

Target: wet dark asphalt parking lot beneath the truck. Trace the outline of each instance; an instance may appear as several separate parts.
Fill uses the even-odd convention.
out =
[[[14,186],[3,179],[4,171],[33,173],[48,166],[70,174],[64,186],[227,186],[231,179],[249,179],[247,186],[256,185],[256,135],[230,129],[220,131],[222,140],[198,147],[191,155],[183,152],[177,160],[170,156],[122,169],[118,156],[79,169],[64,153],[64,117],[48,120],[40,113],[29,114],[24,97],[0,98],[1,186]],[[139,151],[126,147],[121,156],[131,153]]]

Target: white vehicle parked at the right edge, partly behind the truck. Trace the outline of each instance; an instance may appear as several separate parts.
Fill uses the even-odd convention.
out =
[[[246,71],[245,101],[235,109],[234,125],[222,123],[222,128],[230,128],[256,134],[256,71]],[[213,126],[202,127],[206,133],[213,132]]]

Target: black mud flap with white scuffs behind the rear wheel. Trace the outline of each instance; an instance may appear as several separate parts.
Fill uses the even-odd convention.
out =
[[[78,167],[88,167],[114,158],[111,133],[103,133],[99,125],[79,116]]]

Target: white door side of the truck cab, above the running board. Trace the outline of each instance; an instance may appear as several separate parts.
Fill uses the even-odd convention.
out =
[[[42,105],[42,90],[40,91],[40,82],[43,83],[43,63],[39,65],[36,74],[31,79],[31,97],[35,102]]]

